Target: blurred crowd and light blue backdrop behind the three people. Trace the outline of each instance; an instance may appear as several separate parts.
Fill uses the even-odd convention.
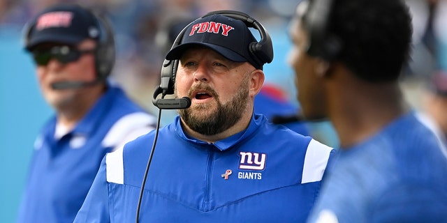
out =
[[[15,222],[34,138],[52,114],[38,89],[34,64],[22,48],[22,29],[33,15],[57,2],[80,3],[109,17],[117,42],[111,77],[154,114],[152,93],[171,45],[166,27],[212,10],[248,13],[265,26],[274,44],[274,61],[264,66],[266,83],[284,91],[299,109],[287,56],[291,46],[288,20],[300,0],[0,0],[0,222]],[[447,0],[407,2],[413,14],[413,54],[402,86],[409,102],[423,110],[423,95],[436,84],[432,77],[446,75]],[[173,116],[175,111],[163,110],[162,125]],[[309,123],[309,130],[319,141],[337,146],[330,123]]]

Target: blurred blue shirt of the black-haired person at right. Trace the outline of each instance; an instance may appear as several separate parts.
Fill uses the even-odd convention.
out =
[[[344,148],[309,222],[447,222],[447,159],[409,112]]]

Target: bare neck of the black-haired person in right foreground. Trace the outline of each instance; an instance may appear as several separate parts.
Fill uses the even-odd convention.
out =
[[[342,148],[371,137],[409,109],[397,82],[371,84],[350,78],[330,92],[330,119]]]

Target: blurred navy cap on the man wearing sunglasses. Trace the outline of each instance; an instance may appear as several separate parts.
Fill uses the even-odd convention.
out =
[[[82,40],[100,38],[101,31],[93,13],[76,4],[57,4],[31,20],[25,33],[25,49],[41,43],[76,45]]]

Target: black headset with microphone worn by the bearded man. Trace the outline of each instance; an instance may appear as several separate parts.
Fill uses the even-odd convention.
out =
[[[265,30],[264,26],[261,23],[259,23],[246,13],[242,13],[235,10],[217,10],[207,13],[203,17],[216,14],[230,17],[235,20],[241,20],[242,22],[245,23],[245,25],[247,25],[247,27],[256,29],[261,36],[261,40],[259,42],[252,42],[249,44],[249,53],[251,55],[251,58],[254,59],[256,63],[261,65],[264,63],[272,62],[273,60],[272,39],[270,38],[270,34]],[[197,20],[200,20],[203,17],[200,17]],[[182,38],[184,36],[184,33],[186,32],[186,29],[188,29],[188,27],[194,22],[196,22],[196,20],[185,26],[184,29],[180,31],[177,38],[175,38],[173,46],[170,49],[177,47],[180,44],[180,42],[182,42]],[[156,90],[154,91],[154,95],[152,98],[152,103],[156,107],[159,107],[159,109],[186,109],[191,105],[191,100],[187,97],[178,99],[163,99],[165,95],[174,93],[175,75],[177,73],[178,63],[179,60],[170,61],[165,59],[163,61],[163,66],[161,67],[161,82],[160,85],[157,86]],[[162,94],[162,98],[156,99],[156,97],[159,94]]]

